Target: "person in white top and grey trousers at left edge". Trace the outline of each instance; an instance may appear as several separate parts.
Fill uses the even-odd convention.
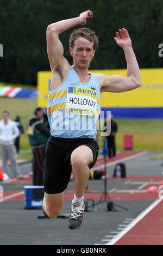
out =
[[[8,174],[8,159],[10,160],[12,172],[14,176],[19,179],[22,174],[18,167],[16,160],[16,148],[14,145],[15,139],[20,135],[18,128],[14,121],[9,119],[9,112],[3,111],[2,120],[0,121],[0,139],[1,139],[1,151],[2,151],[2,162],[3,172]]]

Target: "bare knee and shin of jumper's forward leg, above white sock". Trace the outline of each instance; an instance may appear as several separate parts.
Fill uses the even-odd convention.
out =
[[[76,149],[71,154],[71,165],[72,170],[75,175],[74,186],[76,197],[81,198],[84,195],[87,181],[89,179],[90,170],[89,164],[93,161],[92,150],[82,145]]]

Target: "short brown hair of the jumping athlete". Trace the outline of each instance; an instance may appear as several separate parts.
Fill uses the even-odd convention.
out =
[[[80,36],[93,42],[93,50],[96,50],[99,40],[95,32],[91,31],[89,28],[79,28],[74,30],[70,35],[69,46],[73,48],[74,41]]]

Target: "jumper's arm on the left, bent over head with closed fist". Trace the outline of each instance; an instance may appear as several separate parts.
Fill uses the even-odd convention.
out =
[[[88,10],[81,13],[78,17],[58,21],[47,27],[47,53],[52,71],[64,63],[64,48],[59,40],[59,34],[78,25],[84,26],[86,19],[92,18],[92,16],[92,12]]]

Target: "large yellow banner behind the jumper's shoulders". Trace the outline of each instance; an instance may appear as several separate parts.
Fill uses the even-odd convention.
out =
[[[125,69],[90,70],[90,72],[126,77]],[[124,93],[103,93],[101,107],[163,107],[163,69],[141,69],[140,74],[141,87]],[[40,71],[37,74],[40,107],[47,107],[51,76],[51,71]]]

